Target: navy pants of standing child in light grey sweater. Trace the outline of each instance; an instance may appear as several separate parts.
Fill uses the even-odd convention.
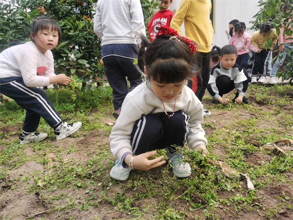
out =
[[[106,44],[102,46],[102,59],[105,73],[110,87],[113,89],[113,106],[118,110],[127,93],[140,85],[142,74],[138,65],[134,65],[134,59],[138,55],[136,44]],[[127,80],[130,88],[127,88]]]

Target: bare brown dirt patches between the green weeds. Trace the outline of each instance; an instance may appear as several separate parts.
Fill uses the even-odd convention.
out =
[[[252,106],[255,106],[257,108],[260,108],[262,111],[274,111],[274,106],[272,105],[266,105],[264,106],[262,103],[256,102],[254,97],[250,97]],[[209,107],[214,104],[211,103],[210,99],[204,99],[203,101],[204,105]],[[284,109],[288,109],[288,114],[292,115],[292,105],[291,106],[284,106]],[[211,110],[211,109],[209,109]],[[227,126],[230,128],[230,130],[237,131],[237,126],[235,124],[235,119],[243,119],[248,120],[250,118],[259,117],[259,114],[252,111],[238,111],[238,110],[211,110],[212,115],[210,117],[207,117],[204,119],[204,123],[208,123],[211,126],[206,127],[206,135],[212,135],[214,133],[214,126],[218,129],[225,129]],[[101,123],[107,123],[107,122],[115,122],[115,119],[110,117],[111,110],[108,110],[106,112],[106,116],[104,118],[101,118]],[[89,119],[91,120],[91,116],[94,116],[95,110],[92,110],[89,114]],[[15,126],[5,126],[1,124],[1,132],[3,134],[10,134],[9,137],[7,137],[7,140],[12,139],[18,139],[18,133],[21,131],[20,126],[21,124],[15,125]],[[283,133],[279,131],[277,126],[275,125],[275,122],[270,121],[268,119],[264,119],[262,123],[259,123],[257,125],[258,128],[266,128],[266,127],[276,127],[276,132],[279,132],[280,135]],[[286,132],[288,134],[293,134],[292,130],[286,129]],[[15,133],[11,135],[11,133]],[[66,149],[69,149],[70,146],[75,143],[75,149],[76,151],[64,154],[63,157],[63,163],[64,161],[82,161],[84,163],[90,162],[92,159],[92,155],[94,155],[97,152],[97,148],[99,146],[104,146],[104,151],[110,151],[109,147],[109,141],[108,141],[108,135],[109,131],[105,131],[104,129],[98,129],[98,130],[92,130],[88,132],[82,133],[82,135],[78,137],[68,137],[61,141],[56,141],[53,138],[47,138],[44,140],[48,143],[48,147],[44,148],[43,150],[40,150],[38,152],[39,155],[43,155],[47,152],[49,149],[49,143],[52,143],[54,146],[59,147],[60,149],[63,149],[64,151]],[[253,137],[251,137],[251,140],[253,140]],[[0,151],[5,149],[5,144],[0,145]],[[214,154],[217,154],[219,158],[224,159],[225,155],[227,154],[227,148],[221,144],[215,144],[212,149]],[[90,206],[88,210],[82,210],[80,211],[77,208],[71,208],[71,209],[63,209],[63,210],[54,210],[54,207],[56,205],[61,206],[62,204],[68,204],[70,202],[70,198],[76,198],[75,203],[78,203],[79,201],[84,201],[84,198],[87,197],[86,194],[84,194],[85,189],[84,188],[76,188],[76,187],[69,187],[69,188],[56,188],[52,191],[45,191],[42,190],[31,190],[31,185],[35,185],[36,181],[33,177],[28,178],[26,181],[18,181],[17,187],[12,189],[11,184],[8,184],[8,182],[11,182],[11,179],[23,179],[25,176],[30,176],[34,174],[38,174],[38,172],[42,172],[45,174],[50,174],[50,169],[46,167],[43,163],[40,161],[37,162],[34,160],[34,156],[36,154],[35,145],[32,147],[30,144],[27,145],[27,148],[24,149],[24,154],[27,157],[32,158],[30,161],[26,161],[23,163],[22,166],[17,167],[15,169],[9,170],[8,175],[4,178],[0,179],[0,216],[3,220],[26,220],[26,219],[35,219],[35,220],[94,220],[94,219],[103,219],[103,220],[126,220],[126,219],[136,219],[135,217],[131,216],[128,212],[123,212],[117,210],[117,205],[110,204],[109,200],[103,200],[101,197],[95,199],[95,201],[99,202],[99,206],[92,207]],[[261,161],[271,161],[272,155],[267,154],[259,154],[259,153],[253,153],[248,154],[247,158],[245,158],[246,162],[250,164],[251,166],[261,166]],[[16,158],[17,160],[17,158]],[[103,164],[105,166],[109,163],[110,160],[114,160],[113,157],[109,156],[105,158],[105,161],[103,161]],[[62,163],[62,161],[52,161],[53,165],[59,165]],[[165,165],[166,167],[167,165]],[[5,169],[7,165],[0,165],[0,169]],[[164,168],[164,166],[163,166]],[[150,176],[157,176],[160,175],[162,167],[153,169],[148,173],[142,173],[138,171],[134,171],[136,175],[141,175],[148,177],[150,180],[156,182],[158,180],[152,179]],[[108,169],[108,173],[110,172],[110,168]],[[289,197],[293,198],[293,173],[286,172],[285,173],[288,176],[288,181],[278,184],[269,184],[265,186],[264,188],[256,190],[256,195],[259,198],[266,198],[262,201],[259,201],[258,199],[254,200],[253,203],[255,206],[259,206],[257,211],[256,209],[254,211],[250,211],[248,207],[240,208],[237,210],[237,215],[234,216],[235,210],[233,210],[233,207],[227,204],[219,204],[216,211],[214,211],[214,214],[219,218],[223,220],[265,220],[270,219],[270,216],[265,216],[265,210],[268,210],[268,207],[275,207],[276,204],[280,202],[280,199],[277,198],[280,194],[283,192]],[[110,177],[108,176],[110,181]],[[125,185],[127,184],[127,181],[122,182],[121,184]],[[157,182],[156,182],[157,183]],[[158,183],[160,184],[160,183]],[[110,190],[110,193],[108,193],[108,198],[114,198],[112,195],[113,193],[119,193],[122,192],[123,188],[120,188],[120,184],[114,184]],[[243,186],[245,186],[245,181],[243,181]],[[99,194],[103,188],[102,186],[96,186],[94,187],[96,190],[96,193]],[[247,188],[246,188],[247,189]],[[138,190],[144,190],[138,189]],[[181,195],[185,192],[186,189],[181,188],[178,190],[175,194]],[[131,197],[135,195],[137,191],[129,190],[125,193],[125,197]],[[228,192],[227,190],[221,191],[220,189],[216,192],[220,199],[230,199],[232,196],[236,196],[237,194],[241,194],[243,196],[247,195],[247,191],[241,191],[238,192],[237,190]],[[51,199],[53,203],[47,202],[47,198],[50,197],[58,197],[61,194],[63,195],[70,195],[64,196],[62,199]],[[130,206],[131,207],[139,207],[139,209],[143,210],[143,207],[146,207],[148,204],[156,204],[158,203],[162,198],[160,197],[152,197],[152,198],[141,198],[139,201],[134,200]],[[206,204],[207,201],[203,199],[200,195],[194,195],[194,201],[197,201],[198,203]],[[290,202],[289,202],[290,203]],[[289,204],[288,203],[288,204]],[[287,203],[286,203],[287,204]],[[292,201],[291,201],[292,204]],[[186,200],[178,199],[176,202],[171,201],[170,206],[176,207],[176,210],[178,211],[185,211],[187,213],[186,219],[206,219],[204,215],[203,208],[195,209],[192,212],[189,210],[189,204]],[[265,209],[266,207],[266,209]],[[48,211],[48,212],[46,212]],[[154,219],[154,216],[158,214],[158,210],[155,206],[149,206],[147,212],[140,217],[140,219]],[[278,208],[277,211],[274,211],[273,218],[275,220],[293,220],[293,212],[292,209],[288,208]]]

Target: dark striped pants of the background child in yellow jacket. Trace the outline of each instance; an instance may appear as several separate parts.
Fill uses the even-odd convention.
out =
[[[257,76],[260,68],[260,75],[267,76],[268,60],[271,55],[271,49],[263,49],[260,53],[254,54],[254,63],[252,66],[252,76]]]

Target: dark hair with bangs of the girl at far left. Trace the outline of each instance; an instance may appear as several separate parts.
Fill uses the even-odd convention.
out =
[[[51,28],[51,31],[58,32],[58,45],[59,45],[62,40],[62,33],[61,33],[60,26],[58,25],[58,23],[54,22],[52,19],[46,16],[38,17],[33,21],[31,34],[34,33],[34,35],[36,36],[38,31],[50,30],[50,28]],[[30,34],[30,41],[35,42],[34,39],[32,39],[31,34]]]

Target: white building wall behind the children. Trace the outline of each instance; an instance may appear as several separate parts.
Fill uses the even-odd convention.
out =
[[[173,0],[169,9],[178,9],[181,0]],[[229,44],[225,30],[229,31],[229,22],[233,19],[237,19],[240,22],[245,22],[246,27],[249,28],[252,25],[249,21],[252,21],[252,17],[260,10],[258,0],[214,0],[214,34],[213,45],[224,46]],[[181,26],[182,33],[185,34],[184,25]],[[247,30],[252,36],[252,30]]]

